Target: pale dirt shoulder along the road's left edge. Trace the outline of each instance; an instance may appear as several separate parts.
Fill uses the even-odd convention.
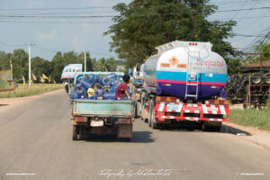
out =
[[[30,102],[33,99],[36,99],[40,97],[41,95],[49,95],[49,94],[57,94],[58,92],[65,91],[64,89],[58,89],[55,91],[50,91],[48,93],[44,94],[36,94],[31,96],[25,96],[25,97],[13,97],[13,98],[0,98],[0,112],[16,107],[17,105],[21,105],[23,103]]]

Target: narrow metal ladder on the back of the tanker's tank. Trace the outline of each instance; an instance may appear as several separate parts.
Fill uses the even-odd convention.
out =
[[[199,91],[199,69],[197,68],[196,70],[193,69],[193,64],[196,63],[196,60],[200,58],[200,50],[198,51],[188,51],[188,58],[187,58],[187,66],[186,66],[186,79],[185,79],[185,93],[184,93],[184,99],[187,97],[194,97],[195,100],[198,99],[198,91]],[[200,66],[202,67],[202,66]],[[200,68],[201,69],[201,68]],[[201,69],[202,70],[202,69]],[[192,72],[194,71],[194,72]],[[192,81],[196,79],[196,81]],[[190,83],[193,82],[193,83]],[[195,94],[190,94],[188,92],[190,86],[196,86],[196,93]]]

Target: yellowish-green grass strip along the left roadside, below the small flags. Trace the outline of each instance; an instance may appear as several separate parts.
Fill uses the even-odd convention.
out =
[[[15,89],[16,97],[24,97],[35,94],[43,94],[49,91],[55,91],[58,89],[64,88],[62,84],[33,84],[31,86],[23,84],[18,84],[18,87]],[[0,98],[9,98],[14,97],[14,92],[3,92],[0,93]]]

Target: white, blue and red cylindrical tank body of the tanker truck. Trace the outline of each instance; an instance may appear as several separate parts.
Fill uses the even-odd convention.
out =
[[[210,42],[176,40],[157,47],[157,50],[157,54],[144,64],[148,91],[185,98],[185,91],[196,94],[198,85],[197,96],[205,99],[219,94],[226,85],[226,62],[211,51]]]

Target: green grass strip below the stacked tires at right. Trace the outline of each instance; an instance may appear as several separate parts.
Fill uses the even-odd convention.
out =
[[[232,109],[229,110],[229,121],[244,126],[257,127],[260,130],[270,130],[270,109]]]

